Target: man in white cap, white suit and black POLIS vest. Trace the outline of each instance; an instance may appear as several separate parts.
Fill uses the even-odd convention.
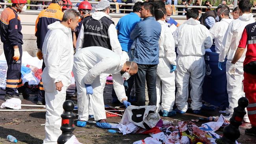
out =
[[[90,46],[101,46],[109,50],[113,50],[118,55],[122,53],[122,47],[117,38],[117,30],[114,22],[109,16],[110,3],[108,0],[101,0],[95,9],[93,15],[83,18],[80,33],[76,42],[76,51]],[[101,74],[100,81],[106,83],[109,74]],[[76,126],[85,127],[85,109],[83,109],[84,98],[78,94],[78,121]],[[80,107],[80,108],[79,108]],[[93,107],[89,106],[89,112],[92,114]]]

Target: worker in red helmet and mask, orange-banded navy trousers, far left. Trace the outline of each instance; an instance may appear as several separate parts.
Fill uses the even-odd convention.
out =
[[[26,10],[27,0],[11,0],[11,7],[1,13],[0,36],[4,43],[4,55],[7,61],[6,95],[5,100],[11,98],[28,98],[21,79],[22,33],[20,18],[17,13]],[[19,91],[17,93],[16,91]]]

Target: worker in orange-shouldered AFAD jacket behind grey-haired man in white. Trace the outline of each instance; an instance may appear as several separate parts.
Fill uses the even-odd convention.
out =
[[[52,0],[52,3],[48,6],[47,9],[41,11],[35,21],[35,36],[37,37],[37,58],[43,59],[43,42],[45,40],[45,35],[48,31],[47,26],[56,21],[61,22],[63,17],[63,12],[61,7],[63,6],[63,0]],[[45,68],[45,63],[43,61],[42,71]],[[39,83],[39,92],[37,96],[37,104],[42,105],[45,103],[45,90],[43,88],[42,80]]]

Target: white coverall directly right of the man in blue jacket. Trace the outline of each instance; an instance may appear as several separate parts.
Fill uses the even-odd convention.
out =
[[[159,64],[156,69],[156,106],[158,112],[173,111],[175,102],[175,73],[171,71],[171,64],[176,65],[175,42],[165,21],[158,20],[161,24],[161,35],[159,39]],[[162,81],[162,85],[160,82]],[[160,102],[162,101],[161,105]]]

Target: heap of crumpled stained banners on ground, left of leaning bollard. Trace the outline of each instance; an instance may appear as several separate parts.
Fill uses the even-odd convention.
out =
[[[163,121],[163,127],[160,128],[162,132],[152,134],[151,137],[136,141],[134,144],[158,144],[159,142],[162,144],[194,144],[197,142],[216,144],[215,140],[221,138],[221,136],[214,131],[226,124],[226,120],[222,115],[219,119],[217,122],[205,123],[210,127],[207,127],[208,129],[206,127],[197,127],[191,121],[178,122],[178,126],[173,126],[171,122]],[[236,144],[238,143],[236,142]]]

